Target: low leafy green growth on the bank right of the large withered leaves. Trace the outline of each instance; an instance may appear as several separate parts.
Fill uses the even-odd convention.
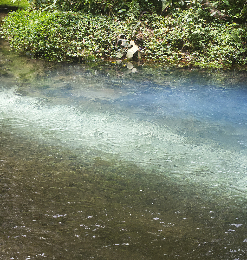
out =
[[[168,18],[153,16],[151,22],[146,17],[151,28],[144,39],[146,57],[186,63],[247,63],[246,28],[222,21],[207,23],[209,17],[198,17],[191,10],[180,10]],[[231,35],[238,36],[239,42]]]

